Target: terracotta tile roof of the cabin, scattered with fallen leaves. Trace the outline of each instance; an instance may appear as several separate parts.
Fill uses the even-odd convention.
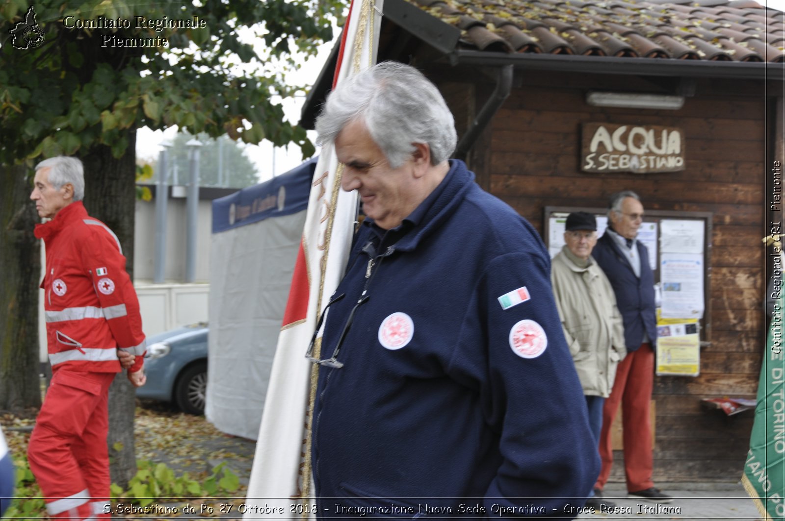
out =
[[[506,53],[785,61],[785,13],[754,0],[408,0]]]

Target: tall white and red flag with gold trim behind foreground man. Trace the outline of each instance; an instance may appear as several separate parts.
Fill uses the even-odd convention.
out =
[[[352,0],[333,87],[376,61],[383,0]],[[311,411],[318,366],[305,359],[319,313],[341,281],[357,214],[341,190],[342,165],[323,146],[278,337],[251,470],[245,519],[312,517]]]

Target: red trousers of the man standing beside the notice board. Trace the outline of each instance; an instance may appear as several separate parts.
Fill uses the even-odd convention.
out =
[[[654,486],[652,481],[652,423],[649,420],[649,403],[654,386],[654,352],[648,343],[637,351],[628,352],[619,362],[611,395],[602,410],[600,433],[600,458],[602,468],[596,487],[603,489],[613,466],[611,426],[619,402],[622,403],[624,431],[624,472],[627,490],[637,492]]]

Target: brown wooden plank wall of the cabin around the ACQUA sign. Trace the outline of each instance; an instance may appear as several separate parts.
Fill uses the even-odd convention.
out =
[[[473,78],[466,72],[466,78]],[[661,83],[660,83],[661,85]],[[492,86],[446,86],[451,107],[479,110]],[[655,377],[657,482],[737,481],[749,448],[753,414],[726,417],[700,399],[754,398],[765,346],[765,89],[754,82],[699,80],[678,111],[590,107],[590,89],[656,92],[632,76],[520,73],[517,86],[469,155],[488,191],[543,234],[545,206],[604,208],[630,189],[645,209],[712,212],[711,344],[699,377]],[[487,94],[485,94],[487,96]],[[675,173],[583,173],[581,125],[612,122],[684,129],[686,169]],[[458,128],[459,133],[462,129]],[[768,232],[766,232],[768,233]],[[612,479],[623,481],[622,453]]]

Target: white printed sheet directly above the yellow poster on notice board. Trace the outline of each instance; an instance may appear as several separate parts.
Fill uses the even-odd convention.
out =
[[[659,282],[662,288],[663,318],[703,317],[702,253],[663,253]]]

